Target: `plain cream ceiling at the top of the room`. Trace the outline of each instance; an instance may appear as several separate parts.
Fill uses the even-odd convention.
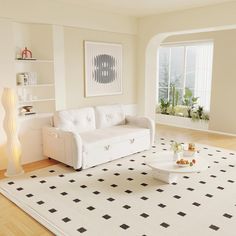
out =
[[[183,9],[215,5],[232,0],[52,0],[80,7],[142,17]]]

